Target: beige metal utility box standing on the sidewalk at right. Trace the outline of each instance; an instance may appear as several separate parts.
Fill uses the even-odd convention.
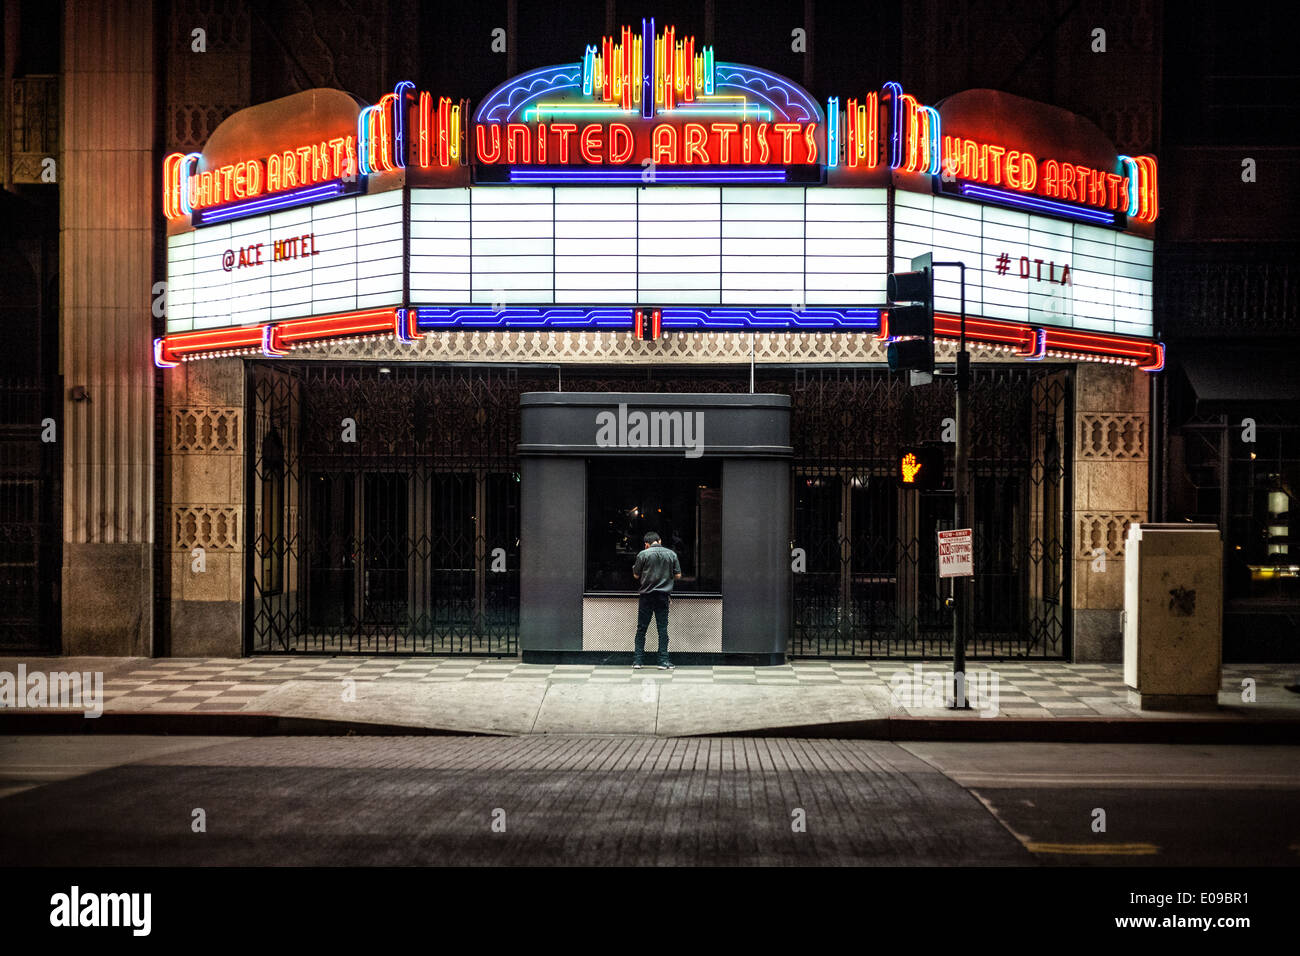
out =
[[[1131,524],[1124,684],[1143,710],[1213,710],[1223,672],[1223,544],[1213,524]]]

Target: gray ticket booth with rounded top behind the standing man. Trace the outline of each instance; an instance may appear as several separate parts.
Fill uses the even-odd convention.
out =
[[[784,663],[790,637],[788,395],[529,392],[520,398],[525,662],[630,662],[632,562],[677,551],[668,650]],[[651,622],[646,653],[658,635]]]

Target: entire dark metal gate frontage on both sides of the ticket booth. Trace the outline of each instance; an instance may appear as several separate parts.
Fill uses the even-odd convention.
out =
[[[1070,375],[975,373],[971,657],[1069,652]],[[302,362],[254,363],[251,376],[259,653],[517,653],[520,394],[749,389],[738,367]],[[893,468],[901,444],[942,437],[952,384],[767,367],[755,389],[793,399],[790,538],[806,567],[790,654],[949,654],[936,532],[952,496],[900,490]]]

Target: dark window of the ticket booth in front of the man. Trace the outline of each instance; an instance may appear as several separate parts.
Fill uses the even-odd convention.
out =
[[[754,516],[763,520],[762,515]],[[586,589],[634,592],[647,531],[677,553],[675,592],[722,591],[722,463],[606,458],[586,466]]]

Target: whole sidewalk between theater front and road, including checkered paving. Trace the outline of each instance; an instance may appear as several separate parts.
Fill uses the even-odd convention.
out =
[[[3,658],[101,672],[104,715],[0,708],[0,732],[770,734],[872,739],[1300,743],[1300,665],[1227,665],[1217,711],[1141,711],[1118,663],[976,662],[975,708],[933,706],[942,661],[781,667],[525,665],[429,657]],[[918,671],[919,669],[919,671]],[[1254,682],[1254,701],[1243,682]],[[894,688],[905,688],[904,695]],[[983,691],[983,698],[979,692]],[[982,715],[984,714],[984,715]]]

